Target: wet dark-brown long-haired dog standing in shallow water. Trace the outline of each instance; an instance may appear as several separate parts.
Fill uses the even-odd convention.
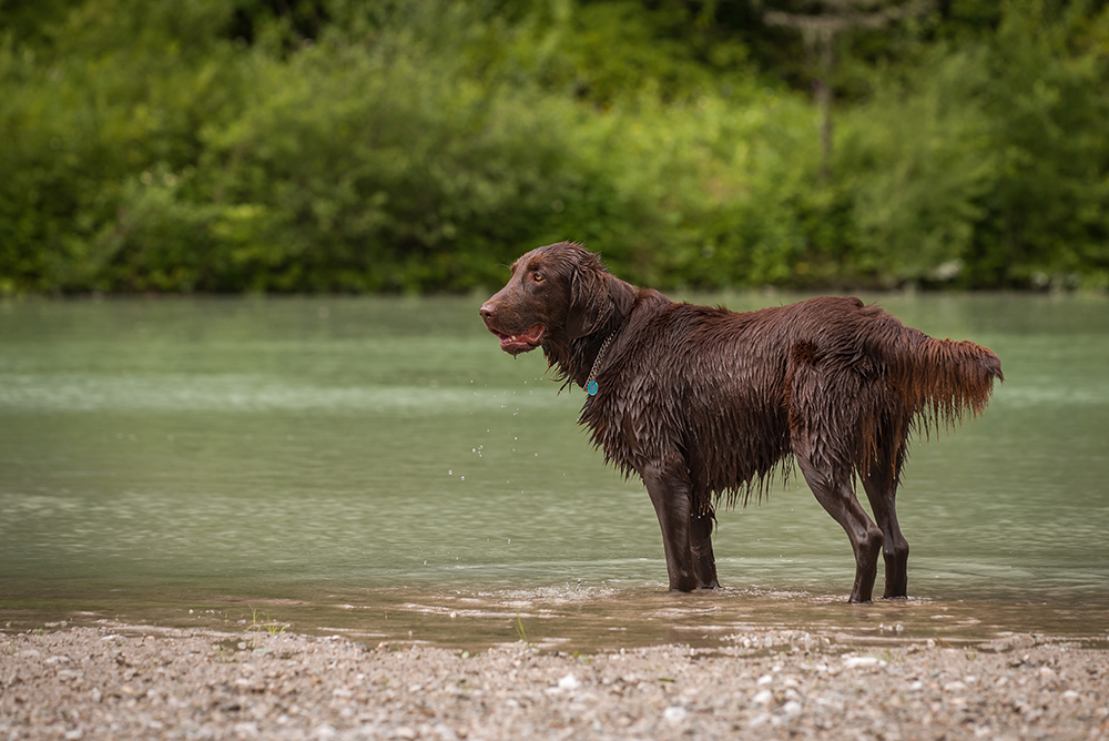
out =
[[[894,498],[908,434],[979,414],[1003,378],[989,349],[933,339],[857,298],[744,314],[674,303],[568,242],[517,260],[481,317],[505,352],[542,347],[564,385],[587,390],[579,422],[606,461],[647,485],[680,591],[719,586],[721,496],[761,495],[792,455],[851,539],[851,601],[871,600],[879,550],[885,597],[905,597]],[[855,498],[856,475],[877,526]]]

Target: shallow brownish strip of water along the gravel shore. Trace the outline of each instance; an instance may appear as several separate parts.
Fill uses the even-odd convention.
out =
[[[1109,647],[1103,625],[1109,599],[1103,593],[1056,590],[1029,599],[1024,591],[847,605],[838,595],[804,591],[725,588],[680,595],[664,589],[664,583],[490,590],[302,586],[221,595],[200,586],[184,591],[146,586],[110,589],[90,600],[88,595],[74,597],[87,591],[80,587],[47,587],[28,599],[32,609],[9,608],[6,617],[12,630],[51,619],[113,619],[237,633],[260,629],[263,622],[275,629],[342,635],[369,646],[418,642],[470,651],[520,641],[581,652],[660,642],[761,650],[798,638],[844,647],[935,641],[1003,650],[1007,641],[1060,639]],[[21,596],[11,597],[13,606],[22,601]],[[74,609],[79,603],[83,609]]]

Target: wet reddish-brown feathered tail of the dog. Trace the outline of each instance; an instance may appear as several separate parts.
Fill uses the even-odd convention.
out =
[[[977,417],[1005,380],[1001,361],[988,347],[969,341],[935,339],[908,329],[898,343],[891,380],[915,426],[925,435],[952,429]]]

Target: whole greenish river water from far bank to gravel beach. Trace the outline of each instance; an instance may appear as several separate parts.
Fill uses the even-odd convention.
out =
[[[0,303],[0,621],[264,615],[475,648],[767,627],[1106,638],[1106,297],[879,298],[993,347],[1007,382],[983,418],[914,445],[913,597],[862,607],[843,602],[846,537],[800,477],[720,512],[728,589],[667,593],[641,484],[588,445],[580,390],[558,394],[538,353],[499,351],[480,300]]]

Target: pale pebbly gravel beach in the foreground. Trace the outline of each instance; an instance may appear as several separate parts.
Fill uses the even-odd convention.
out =
[[[1109,652],[1027,635],[471,654],[102,621],[2,641],[0,739],[1109,737]]]

